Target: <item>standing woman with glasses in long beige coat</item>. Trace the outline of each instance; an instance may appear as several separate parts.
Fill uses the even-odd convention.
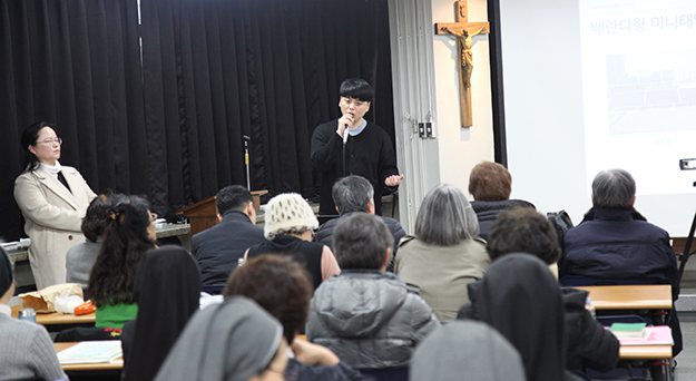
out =
[[[66,253],[85,242],[82,217],[97,197],[76,168],[60,165],[61,144],[46,121],[27,127],[21,137],[26,159],[14,180],[14,201],[31,238],[29,263],[37,290],[66,282]]]

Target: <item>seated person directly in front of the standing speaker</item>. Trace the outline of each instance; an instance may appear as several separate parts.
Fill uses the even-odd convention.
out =
[[[336,205],[336,212],[341,216],[350,216],[356,212],[367,212],[374,214],[374,189],[372,184],[361,176],[351,175],[339,179],[332,189],[333,202]],[[386,271],[394,272],[394,257],[399,250],[399,241],[406,235],[399,221],[382,216],[382,221],[386,224],[389,232],[394,237],[394,247],[392,250],[392,260],[386,266]],[[339,218],[329,219],[320,226],[314,235],[314,241],[323,243],[333,250],[333,229],[336,227]]]

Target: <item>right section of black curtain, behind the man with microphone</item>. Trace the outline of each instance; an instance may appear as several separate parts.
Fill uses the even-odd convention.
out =
[[[339,86],[369,80],[367,118],[392,136],[386,0],[143,0],[143,67],[156,208],[229,184],[311,196],[310,140],[340,116]]]

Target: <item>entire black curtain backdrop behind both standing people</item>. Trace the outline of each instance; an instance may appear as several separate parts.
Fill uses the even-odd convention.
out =
[[[314,128],[339,86],[375,87],[366,118],[394,140],[386,0],[0,0],[0,235],[21,130],[57,123],[61,163],[95,192],[146,194],[165,214],[246,184],[311,196]],[[139,49],[141,38],[143,55]],[[140,61],[141,59],[141,61]],[[140,66],[141,62],[141,66]]]

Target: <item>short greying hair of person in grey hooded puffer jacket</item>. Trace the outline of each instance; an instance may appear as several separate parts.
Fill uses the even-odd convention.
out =
[[[386,250],[394,245],[381,217],[357,212],[339,219],[333,233],[333,247],[343,270],[381,270]]]

